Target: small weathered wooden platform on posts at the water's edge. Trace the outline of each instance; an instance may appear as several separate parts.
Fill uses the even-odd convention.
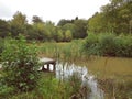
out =
[[[51,64],[53,65],[53,72],[56,69],[56,61],[47,57],[40,58],[40,62],[42,64],[42,70],[50,72]],[[47,65],[47,68],[44,67],[44,65]]]

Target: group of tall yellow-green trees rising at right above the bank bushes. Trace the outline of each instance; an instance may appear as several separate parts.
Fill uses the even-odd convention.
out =
[[[132,0],[110,0],[88,20],[91,32],[132,33]]]

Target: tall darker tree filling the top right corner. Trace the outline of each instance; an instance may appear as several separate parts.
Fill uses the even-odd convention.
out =
[[[131,0],[111,0],[110,4],[102,7],[106,22],[111,24],[116,33],[129,33],[129,23],[132,19]]]

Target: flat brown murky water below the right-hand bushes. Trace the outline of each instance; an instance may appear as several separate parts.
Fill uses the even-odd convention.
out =
[[[87,67],[100,77],[132,78],[132,58],[96,57],[87,62]]]

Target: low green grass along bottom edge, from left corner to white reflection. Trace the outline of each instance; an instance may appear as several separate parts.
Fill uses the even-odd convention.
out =
[[[68,79],[56,79],[54,74],[41,73],[38,86],[33,91],[1,96],[0,99],[69,99],[80,92],[81,79],[72,75]]]

